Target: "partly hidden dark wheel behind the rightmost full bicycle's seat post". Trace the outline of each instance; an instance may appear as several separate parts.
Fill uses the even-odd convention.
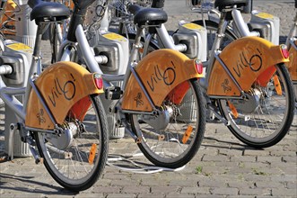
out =
[[[197,25],[204,26],[204,21],[203,20],[197,20],[192,23],[196,23]],[[218,28],[218,23],[215,23],[210,20],[205,20],[205,29],[207,31],[207,57],[209,57],[209,54],[212,50],[213,43],[214,43],[214,37],[217,32]],[[224,47],[226,47],[228,44],[231,43],[233,40],[237,40],[238,37],[236,34],[231,30],[230,26],[227,26],[226,31],[224,32],[224,38],[220,44],[220,50],[222,50]]]

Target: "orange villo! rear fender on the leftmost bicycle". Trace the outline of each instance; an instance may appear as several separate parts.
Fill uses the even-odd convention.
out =
[[[84,67],[67,61],[57,62],[41,73],[35,86],[57,124],[63,124],[66,116],[71,117],[74,114],[76,119],[83,120],[91,104],[87,96],[103,93],[103,89],[98,89],[94,83],[95,75]],[[78,111],[84,111],[81,117],[78,117]],[[54,129],[54,123],[33,89],[28,100],[25,124],[38,129]]]

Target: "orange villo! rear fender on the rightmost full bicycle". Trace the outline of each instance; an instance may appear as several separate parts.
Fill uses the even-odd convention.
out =
[[[215,60],[207,94],[240,96],[240,88],[248,92],[254,82],[266,86],[276,71],[275,65],[289,61],[289,58],[284,58],[282,47],[258,37],[234,40],[219,55],[226,68]],[[227,71],[238,82],[240,88],[231,80]]]

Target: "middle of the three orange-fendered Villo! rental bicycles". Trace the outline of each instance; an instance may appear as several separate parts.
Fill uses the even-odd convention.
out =
[[[101,74],[105,87],[109,87],[101,100],[106,103],[108,116],[116,120],[110,122],[111,128],[125,127],[154,165],[186,165],[197,153],[205,131],[205,100],[197,83],[203,76],[202,65],[171,49],[157,50],[137,61],[142,30],[167,21],[165,12],[152,8],[135,16],[138,30],[129,59],[118,56],[129,51],[128,40],[113,32],[92,34],[94,43],[90,47],[83,17],[94,2],[74,0],[66,40],[60,44],[57,59],[75,59]]]

